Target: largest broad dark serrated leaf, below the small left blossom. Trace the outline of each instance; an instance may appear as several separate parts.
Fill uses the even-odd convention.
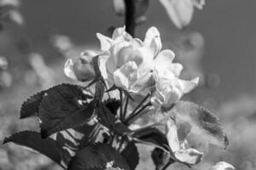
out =
[[[70,84],[50,88],[39,105],[39,118],[43,138],[70,127],[89,122],[94,111],[94,101],[83,104],[83,89]]]

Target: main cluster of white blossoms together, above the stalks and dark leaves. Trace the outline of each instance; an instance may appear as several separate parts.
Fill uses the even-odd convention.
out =
[[[67,77],[80,81],[95,79],[92,60],[98,56],[99,70],[108,88],[121,88],[131,95],[150,94],[156,109],[171,107],[199,82],[198,77],[191,81],[179,78],[183,66],[172,63],[172,50],[161,49],[160,33],[155,27],[148,29],[144,41],[131,37],[125,27],[115,29],[112,38],[100,33],[97,37],[101,52],[84,53],[74,63],[67,60]]]

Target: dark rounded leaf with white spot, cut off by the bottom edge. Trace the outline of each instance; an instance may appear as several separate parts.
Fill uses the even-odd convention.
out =
[[[108,144],[88,145],[73,157],[67,170],[120,168],[129,170],[125,158]]]

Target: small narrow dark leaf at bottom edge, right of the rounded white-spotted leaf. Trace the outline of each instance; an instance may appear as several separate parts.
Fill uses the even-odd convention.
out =
[[[121,155],[125,157],[130,169],[135,170],[139,163],[139,154],[135,143],[129,142],[125,147],[125,150],[121,152]]]

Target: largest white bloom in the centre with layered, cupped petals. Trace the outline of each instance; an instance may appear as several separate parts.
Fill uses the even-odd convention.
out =
[[[132,38],[125,27],[113,31],[112,38],[99,33],[97,37],[104,52],[99,59],[99,68],[109,87],[115,85],[139,93],[150,86],[154,56],[162,46],[155,27],[148,29],[143,42]]]

